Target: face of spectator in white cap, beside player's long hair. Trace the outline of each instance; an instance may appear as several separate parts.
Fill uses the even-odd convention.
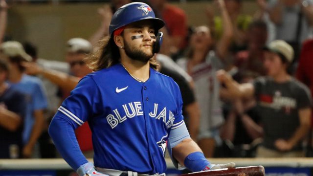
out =
[[[86,57],[83,53],[67,53],[66,60],[70,67],[70,72],[77,77],[84,77],[91,72],[83,61]]]

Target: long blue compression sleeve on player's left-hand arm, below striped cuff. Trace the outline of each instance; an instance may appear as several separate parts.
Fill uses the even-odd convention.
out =
[[[60,154],[75,171],[88,162],[79,148],[74,128],[66,119],[54,116],[48,132]]]

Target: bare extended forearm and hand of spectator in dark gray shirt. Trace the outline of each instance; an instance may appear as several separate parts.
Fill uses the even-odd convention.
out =
[[[217,77],[221,83],[224,83],[224,93],[230,97],[235,98],[249,98],[254,95],[254,86],[251,83],[238,84],[232,77],[224,70],[217,71]]]

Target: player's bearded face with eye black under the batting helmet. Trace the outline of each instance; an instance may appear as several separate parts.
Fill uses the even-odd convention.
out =
[[[150,21],[136,22],[124,29],[125,53],[133,60],[148,62],[154,56],[155,29]]]

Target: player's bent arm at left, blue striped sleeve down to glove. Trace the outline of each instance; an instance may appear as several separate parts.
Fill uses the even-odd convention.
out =
[[[83,78],[62,103],[49,126],[48,132],[54,145],[79,176],[103,175],[96,172],[93,164],[88,162],[74,132],[95,112],[99,97],[101,96],[92,78]]]

